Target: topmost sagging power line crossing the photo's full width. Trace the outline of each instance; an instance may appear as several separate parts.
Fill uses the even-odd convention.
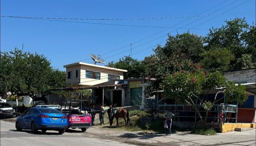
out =
[[[224,14],[211,14],[211,15],[195,15],[195,16],[179,16],[179,17],[158,17],[158,18],[52,18],[52,17],[24,17],[24,16],[1,16],[1,17],[11,17],[11,18],[36,18],[36,19],[68,19],[68,20],[153,20],[153,19],[173,19],[173,18],[189,18],[189,17],[203,17],[203,16],[216,16],[216,15],[229,15],[238,13],[254,12],[255,10],[224,13]]]

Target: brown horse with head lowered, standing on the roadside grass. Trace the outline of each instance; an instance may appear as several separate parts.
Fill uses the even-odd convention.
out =
[[[125,121],[125,126],[128,125],[128,122],[131,124],[131,120],[129,118],[129,111],[126,110],[126,109],[120,109],[120,110],[117,110],[115,114],[112,115],[111,117],[111,121],[110,121],[110,126],[112,126],[113,124],[113,119],[116,119],[116,127],[119,126],[119,123],[118,123],[118,118],[124,118],[124,121]],[[127,120],[126,120],[127,118]]]

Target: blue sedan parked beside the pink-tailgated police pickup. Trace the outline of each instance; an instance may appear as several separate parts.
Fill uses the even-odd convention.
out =
[[[52,108],[33,107],[26,110],[21,117],[16,120],[17,131],[31,129],[33,133],[38,130],[56,130],[60,134],[68,127],[67,116]]]

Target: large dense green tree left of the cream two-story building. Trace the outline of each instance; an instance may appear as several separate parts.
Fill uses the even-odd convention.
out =
[[[66,74],[52,69],[44,55],[14,51],[1,52],[0,95],[30,96],[34,101],[43,100],[48,89],[65,86]]]

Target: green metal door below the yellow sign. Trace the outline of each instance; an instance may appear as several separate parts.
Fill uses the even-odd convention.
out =
[[[131,88],[130,105],[141,105],[142,102],[142,88]]]

